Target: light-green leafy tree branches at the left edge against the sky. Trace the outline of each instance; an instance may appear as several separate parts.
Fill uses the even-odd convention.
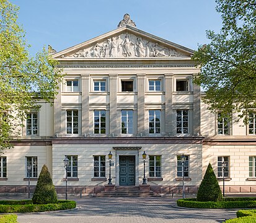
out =
[[[17,23],[19,7],[0,0],[0,152],[11,148],[19,136],[26,112],[38,109],[37,100],[46,102],[56,95],[61,71],[57,61],[43,50],[32,57],[22,27]]]

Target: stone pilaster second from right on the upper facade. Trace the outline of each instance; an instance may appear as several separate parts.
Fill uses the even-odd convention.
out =
[[[174,113],[172,111],[172,92],[174,74],[164,74],[166,81],[166,136],[174,136]]]

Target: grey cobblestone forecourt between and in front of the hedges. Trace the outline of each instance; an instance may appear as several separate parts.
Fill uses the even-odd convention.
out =
[[[14,199],[17,199],[14,198]],[[77,201],[70,211],[18,214],[19,223],[143,223],[223,222],[236,217],[234,209],[182,209],[174,198],[69,198]]]

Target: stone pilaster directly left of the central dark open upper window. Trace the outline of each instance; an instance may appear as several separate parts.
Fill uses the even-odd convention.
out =
[[[117,74],[109,74],[109,135],[117,136]]]

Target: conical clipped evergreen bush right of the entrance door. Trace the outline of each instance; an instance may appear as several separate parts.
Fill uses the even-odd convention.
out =
[[[221,189],[211,164],[207,167],[196,198],[197,201],[220,201],[222,199]]]

